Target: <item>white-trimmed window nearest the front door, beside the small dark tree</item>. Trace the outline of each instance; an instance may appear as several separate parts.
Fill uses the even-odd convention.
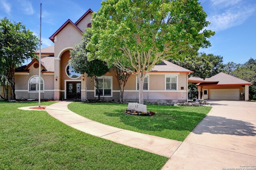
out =
[[[98,87],[100,96],[111,96],[112,94],[112,77],[98,77]],[[98,90],[95,89],[95,94],[98,96]]]

